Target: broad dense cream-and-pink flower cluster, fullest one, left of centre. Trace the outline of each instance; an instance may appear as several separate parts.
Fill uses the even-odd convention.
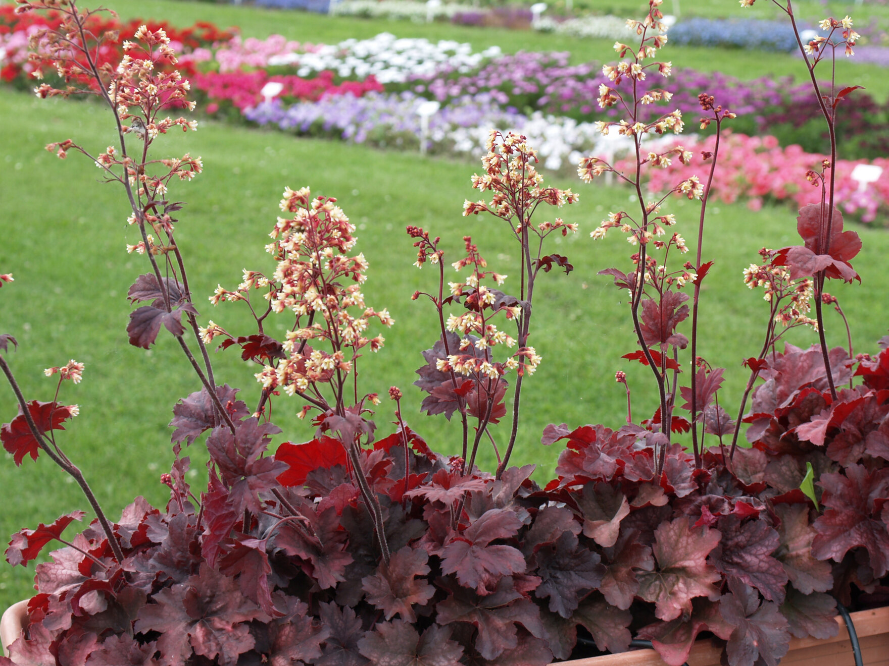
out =
[[[264,388],[280,386],[292,395],[330,382],[335,373],[350,372],[358,350],[369,346],[376,352],[383,345],[382,336],[364,336],[369,322],[377,319],[391,326],[394,321],[387,310],[377,312],[364,304],[361,284],[366,279],[367,262],[363,254],[348,256],[356,243],[355,226],[335,199],[312,199],[308,187],[296,191],[287,187],[280,208],[293,215],[278,218],[269,234],[273,242],[266,249],[277,262],[273,276],[244,271],[244,281],[236,290],[220,287],[210,300],[214,304],[249,300],[251,289],[268,289],[265,297],[272,312],[289,309],[296,314],[284,341],[287,357],[277,367],[265,366],[256,375]],[[361,313],[350,313],[353,307]],[[302,325],[303,317],[308,317],[308,325]],[[201,334],[205,340],[228,335],[212,322]],[[309,340],[326,341],[332,352],[313,349]]]

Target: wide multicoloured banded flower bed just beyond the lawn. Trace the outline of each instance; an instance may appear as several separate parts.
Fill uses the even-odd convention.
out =
[[[28,34],[48,24],[29,22],[8,11],[4,17],[0,46],[6,65],[0,74],[17,85],[28,85]],[[128,24],[124,34],[133,26]],[[436,99],[443,107],[430,119],[427,147],[433,151],[480,155],[487,130],[495,124],[539,139],[543,162],[550,169],[564,168],[582,153],[621,150],[620,143],[604,145],[592,124],[618,115],[616,108],[603,109],[595,101],[600,87],[610,83],[609,75],[592,63],[570,65],[566,52],[502,54],[496,48],[472,52],[469,44],[433,44],[387,33],[340,44],[300,44],[281,36],[265,40],[231,36],[209,24],[172,36],[180,66],[193,72],[191,81],[204,110],[219,117],[276,124],[300,134],[416,147],[421,133],[416,109],[423,99]],[[107,57],[113,53],[108,51]],[[811,200],[813,189],[795,167],[819,163],[829,137],[808,87],[770,77],[741,81],[692,69],[671,75],[668,87],[675,94],[670,103],[686,116],[698,113],[698,96],[704,91],[740,116],[734,138],[725,146],[730,155],[724,174],[733,170],[733,175],[717,181],[719,196],[749,197],[752,206],[764,197],[797,204]],[[259,107],[260,91],[270,81],[283,83],[284,89],[271,105]],[[637,86],[645,93],[664,83],[661,75],[650,75]],[[362,99],[368,92],[379,94]],[[335,99],[344,94],[347,97]],[[885,105],[859,93],[854,105],[844,105],[840,111],[838,128],[848,140],[846,153],[882,166],[884,160],[877,156],[889,150]],[[548,125],[546,131],[541,123]],[[781,147],[757,144],[760,139],[751,143],[742,138],[745,133],[773,136]],[[762,154],[761,163],[767,168],[744,173],[743,161],[753,152]],[[858,162],[840,163],[837,195],[843,210],[870,221],[889,192],[882,178],[859,192],[857,183],[848,178]]]

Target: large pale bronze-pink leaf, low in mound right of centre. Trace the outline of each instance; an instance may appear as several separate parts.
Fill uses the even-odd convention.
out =
[[[722,576],[707,564],[709,552],[719,543],[719,532],[709,527],[690,527],[687,517],[661,523],[654,530],[656,571],[637,572],[638,596],[654,604],[654,614],[664,621],[692,612],[692,599],[717,599],[713,583]]]

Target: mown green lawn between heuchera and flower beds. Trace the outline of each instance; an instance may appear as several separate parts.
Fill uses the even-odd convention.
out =
[[[241,11],[154,2],[142,5],[146,11],[141,14],[147,16],[148,10],[159,5],[204,12],[208,8]],[[261,13],[244,10],[241,15],[255,20]],[[195,19],[176,22],[188,24]],[[414,28],[395,24],[399,26],[405,28],[404,34]],[[269,23],[269,31],[275,31],[271,28]],[[244,34],[251,33],[245,29]],[[124,244],[136,239],[124,221],[129,211],[122,191],[102,184],[100,172],[83,156],[72,154],[60,161],[43,150],[46,143],[68,137],[93,151],[101,150],[115,139],[110,115],[90,103],[41,101],[0,89],[0,117],[4,118],[0,123],[0,272],[12,272],[16,278],[0,290],[0,332],[11,333],[20,342],[19,350],[7,358],[29,400],[52,399],[55,383],[44,377],[44,368],[72,358],[84,361],[84,382],[66,385],[60,398],[81,406],[81,415],[68,430],[57,433],[60,443],[83,469],[112,518],[139,494],[163,504],[167,494],[158,479],[172,460],[167,427],[172,406],[196,391],[198,382],[165,331],[150,352],[127,343],[130,306],[125,294],[136,276],[148,271],[148,262],[124,251]],[[387,337],[384,349],[360,361],[363,390],[385,395],[390,385],[400,386],[407,423],[435,448],[457,453],[459,424],[449,424],[442,416],[421,416],[422,395],[411,385],[414,370],[423,362],[420,351],[435,342],[437,325],[430,305],[410,297],[416,289],[436,289],[437,282],[431,266],[421,271],[412,266],[414,249],[404,226],[419,225],[441,235],[448,262],[461,256],[461,237],[471,234],[490,266],[509,274],[506,289],[515,289],[517,246],[504,227],[489,218],[461,217],[464,198],[476,198],[469,176],[478,170],[477,163],[214,123],[202,123],[195,134],[171,134],[156,144],[156,156],[185,152],[202,155],[205,165],[204,175],[193,183],[177,184],[171,193],[174,199],[188,202],[180,216],[178,239],[188,258],[202,323],[212,318],[234,333],[252,332],[237,304],[214,308],[205,297],[217,283],[236,286],[242,268],[271,270],[263,246],[279,212],[277,202],[284,186],[309,185],[316,194],[337,196],[358,226],[357,250],[364,251],[371,264],[367,301],[377,308],[388,307],[396,319],[395,327],[382,331]],[[532,342],[543,362],[525,383],[513,462],[538,464],[535,478],[541,481],[552,477],[561,450],[559,445],[541,446],[546,424],[604,423],[616,428],[623,423],[625,396],[622,386],[614,383],[615,370],[628,371],[637,419],[651,415],[655,408],[649,370],[620,358],[636,349],[626,295],[614,289],[610,278],[597,275],[609,266],[627,269],[629,246],[620,235],[605,242],[592,242],[588,235],[608,210],[629,206],[629,193],[621,188],[584,186],[576,178],[549,178],[549,183],[574,187],[581,192],[581,202],[557,213],[543,211],[541,219],[558,214],[566,221],[577,221],[581,234],[550,246],[550,251],[567,255],[575,270],[567,276],[559,272],[543,276],[534,305]],[[698,204],[677,200],[671,210],[691,244]],[[760,247],[797,242],[795,214],[786,207],[753,213],[741,204],[719,202],[710,212],[704,258],[716,264],[703,289],[699,353],[728,369],[720,400],[734,411],[746,380],[740,361],[757,353],[766,315],[761,295],[742,285],[741,270],[757,259]],[[889,236],[876,228],[854,228],[864,240],[864,249],[855,260],[863,284],[830,285],[830,290],[840,297],[853,323],[856,351],[874,351],[875,341],[889,323],[878,305],[884,300],[881,287],[889,277],[889,267],[880,259],[889,250]],[[831,345],[844,344],[845,330],[838,317],[830,310],[827,317]],[[283,319],[271,332],[280,333],[289,323]],[[810,345],[816,336],[806,330],[790,339]],[[258,385],[252,373],[256,368],[230,350],[214,354],[213,361],[218,381],[243,388],[248,404],[255,404]],[[284,428],[276,442],[312,436],[311,426],[295,417],[300,407],[300,400],[285,396],[276,400],[273,420]],[[0,420],[9,421],[15,409],[12,392],[0,388]],[[392,404],[387,400],[375,416],[381,435],[390,432],[392,420]],[[506,419],[494,429],[494,437],[502,444],[508,432]],[[198,442],[187,453],[199,489],[205,479],[205,449]],[[485,449],[480,465],[490,470],[493,464],[493,453]],[[4,507],[2,535],[87,508],[76,486],[49,461],[28,459],[16,469],[11,456],[0,466],[0,503]],[[33,567],[0,567],[0,607],[27,596],[32,577]]]

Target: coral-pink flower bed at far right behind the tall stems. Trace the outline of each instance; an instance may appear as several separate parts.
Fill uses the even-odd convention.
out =
[[[691,162],[687,165],[676,162],[669,170],[651,169],[651,189],[667,191],[676,178],[697,175],[703,179],[709,172],[709,160],[705,163],[701,153],[712,153],[715,143],[716,137],[691,143],[677,140],[675,145],[683,145],[693,152]],[[658,152],[669,147],[659,147]],[[746,197],[747,205],[753,210],[761,208],[765,199],[792,200],[800,207],[821,202],[821,187],[817,186],[817,179],[809,181],[806,172],[820,172],[824,159],[824,155],[806,153],[799,146],[781,147],[772,136],[749,137],[727,132],[719,147],[719,168],[712,192],[724,202]],[[852,178],[855,165],[861,163],[883,168],[877,182],[870,183],[863,191],[859,191],[859,182]],[[616,168],[624,172],[635,170],[635,162],[628,157],[618,162]],[[844,212],[860,215],[864,222],[873,221],[877,210],[889,202],[889,159],[837,160],[836,202]]]

